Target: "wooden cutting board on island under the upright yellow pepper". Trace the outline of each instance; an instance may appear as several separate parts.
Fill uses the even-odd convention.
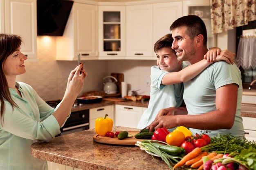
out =
[[[146,139],[136,139],[134,137],[135,134],[139,133],[138,131],[128,131],[129,134],[132,135],[132,137],[126,137],[122,140],[119,140],[116,136],[106,137],[106,136],[100,136],[100,135],[94,135],[93,141],[103,143],[103,144],[114,144],[114,145],[135,145],[137,141],[144,141]]]

